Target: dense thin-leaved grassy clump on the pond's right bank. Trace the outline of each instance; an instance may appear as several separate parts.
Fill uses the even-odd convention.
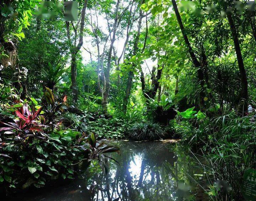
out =
[[[240,193],[246,170],[256,167],[253,114],[240,117],[235,111],[226,115],[189,120],[181,124],[182,142],[201,150],[197,158],[202,167],[204,189],[213,200],[244,200]],[[203,188],[203,183],[200,184]]]

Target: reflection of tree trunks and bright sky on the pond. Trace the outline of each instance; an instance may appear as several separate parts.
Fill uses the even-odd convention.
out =
[[[94,177],[96,201],[177,200],[175,161],[177,156],[161,142],[124,142],[121,157],[114,158],[120,165],[110,161],[107,176]],[[132,163],[137,163],[136,165]],[[140,166],[140,167],[138,167]],[[138,170],[134,172],[132,168]],[[89,186],[89,185],[88,185]]]

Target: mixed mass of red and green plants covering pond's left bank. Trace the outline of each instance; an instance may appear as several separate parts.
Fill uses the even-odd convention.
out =
[[[77,170],[86,170],[91,160],[107,169],[105,153],[118,147],[97,141],[72,124],[66,128],[57,117],[67,105],[66,96],[58,101],[46,87],[44,105],[31,98],[5,103],[0,116],[0,191],[41,187],[53,179],[73,179]],[[11,103],[11,101],[10,101]],[[31,105],[29,105],[31,104]],[[37,108],[37,109],[36,109]],[[85,122],[85,116],[77,117]],[[71,127],[71,126],[70,126]],[[74,129],[75,128],[75,129]],[[82,131],[82,132],[81,132]],[[103,160],[104,159],[104,160]],[[107,170],[106,170],[107,172]]]

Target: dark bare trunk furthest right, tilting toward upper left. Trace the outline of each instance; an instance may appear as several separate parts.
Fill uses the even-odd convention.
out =
[[[244,67],[244,61],[242,59],[242,53],[241,53],[241,48],[240,48],[239,39],[238,39],[238,31],[235,27],[235,23],[233,21],[233,17],[231,16],[231,13],[227,13],[226,17],[228,19],[231,33],[233,36],[233,41],[234,41],[234,46],[236,51],[236,58],[238,60],[238,67],[239,67],[240,78],[241,78],[241,100],[240,100],[241,103],[239,107],[239,112],[244,114],[244,112],[247,110],[247,100],[248,100],[247,76],[246,76],[246,71]]]

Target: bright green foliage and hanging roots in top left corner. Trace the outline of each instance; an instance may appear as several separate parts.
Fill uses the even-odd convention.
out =
[[[25,38],[23,28],[28,28],[34,9],[40,0],[3,0],[0,2],[0,65],[16,66],[17,39]],[[7,58],[6,56],[7,55]]]

